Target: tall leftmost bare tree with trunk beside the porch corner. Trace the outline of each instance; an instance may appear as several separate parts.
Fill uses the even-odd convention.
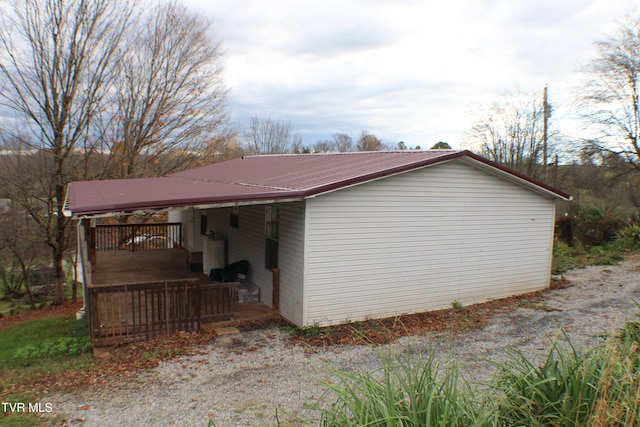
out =
[[[46,150],[44,212],[33,215],[51,248],[55,302],[63,295],[63,256],[70,222],[63,214],[67,163],[93,141],[91,124],[102,111],[120,58],[131,2],[12,0],[0,4],[0,108],[17,123],[4,137]],[[20,134],[22,133],[22,135]],[[24,136],[27,136],[26,138]],[[15,180],[3,185],[15,188]],[[16,178],[16,177],[13,177]],[[15,194],[15,192],[12,192]],[[13,196],[12,196],[13,198]],[[16,199],[19,200],[19,199]],[[25,200],[25,198],[22,198]]]

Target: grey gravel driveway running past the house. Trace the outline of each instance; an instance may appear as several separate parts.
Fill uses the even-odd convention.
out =
[[[430,351],[455,358],[468,378],[492,374],[489,360],[516,347],[531,358],[548,351],[549,335],[562,327],[578,346],[602,342],[636,316],[640,302],[640,257],[616,266],[569,272],[571,284],[547,292],[535,306],[496,312],[489,325],[462,334],[413,336],[394,351]],[[523,304],[524,305],[524,304]],[[306,351],[305,351],[306,350]],[[54,414],[73,426],[298,425],[305,404],[321,394],[318,379],[338,369],[377,369],[380,360],[367,346],[305,349],[292,346],[276,328],[223,336],[203,349],[131,378],[48,396]]]

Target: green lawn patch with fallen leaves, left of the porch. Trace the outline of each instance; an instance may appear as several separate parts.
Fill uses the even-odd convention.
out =
[[[0,330],[0,396],[2,402],[38,401],[38,395],[9,391],[14,384],[28,385],[68,370],[92,366],[86,320],[57,316],[19,323]],[[40,425],[35,414],[3,414],[4,427]]]

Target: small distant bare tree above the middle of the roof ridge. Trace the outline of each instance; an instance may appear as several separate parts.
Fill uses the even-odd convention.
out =
[[[248,154],[287,153],[301,147],[299,135],[293,134],[291,122],[254,116],[244,134],[244,150]]]

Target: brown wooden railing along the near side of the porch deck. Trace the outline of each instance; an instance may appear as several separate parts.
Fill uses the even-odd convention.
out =
[[[238,283],[198,279],[88,289],[94,346],[148,340],[175,331],[199,331],[205,320],[228,320],[235,312]]]

